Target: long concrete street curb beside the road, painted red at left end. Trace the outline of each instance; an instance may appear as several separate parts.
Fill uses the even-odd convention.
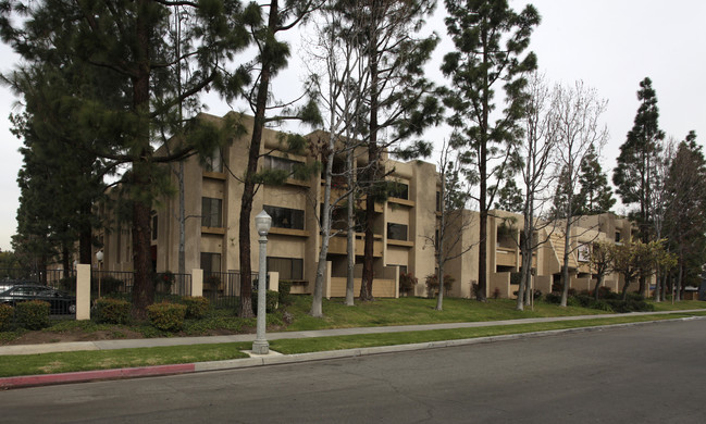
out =
[[[313,361],[323,361],[323,360],[331,360],[331,359],[366,357],[371,354],[439,349],[439,348],[468,346],[468,345],[481,345],[481,344],[490,344],[495,341],[518,340],[523,338],[550,337],[550,336],[557,336],[562,334],[572,334],[572,333],[602,332],[604,329],[624,328],[624,327],[632,327],[632,326],[644,325],[644,324],[655,324],[655,323],[664,323],[670,321],[692,321],[692,320],[706,320],[706,316],[689,316],[689,317],[680,317],[673,320],[657,320],[657,321],[644,321],[637,323],[597,325],[591,327],[549,329],[543,332],[508,334],[501,336],[475,337],[475,338],[466,338],[466,339],[456,339],[456,340],[425,341],[425,342],[409,344],[409,345],[376,346],[370,348],[330,350],[330,351],[311,352],[311,353],[259,356],[253,358],[232,359],[225,361],[210,361],[210,362],[196,362],[196,363],[174,364],[174,365],[156,365],[156,366],[131,367],[131,369],[84,371],[84,372],[76,372],[76,373],[3,377],[0,378],[0,389],[7,390],[13,388],[25,388],[25,387],[33,387],[33,386],[47,386],[47,385],[69,384],[69,383],[87,383],[87,382],[103,381],[103,379],[123,379],[123,378],[147,377],[147,376],[164,376],[164,375],[186,374],[186,373],[207,372],[207,371],[226,371],[226,370],[237,370],[237,369],[246,369],[246,367],[255,367],[255,366],[280,365],[280,364],[290,364],[290,363],[299,363],[299,362],[313,362]]]

